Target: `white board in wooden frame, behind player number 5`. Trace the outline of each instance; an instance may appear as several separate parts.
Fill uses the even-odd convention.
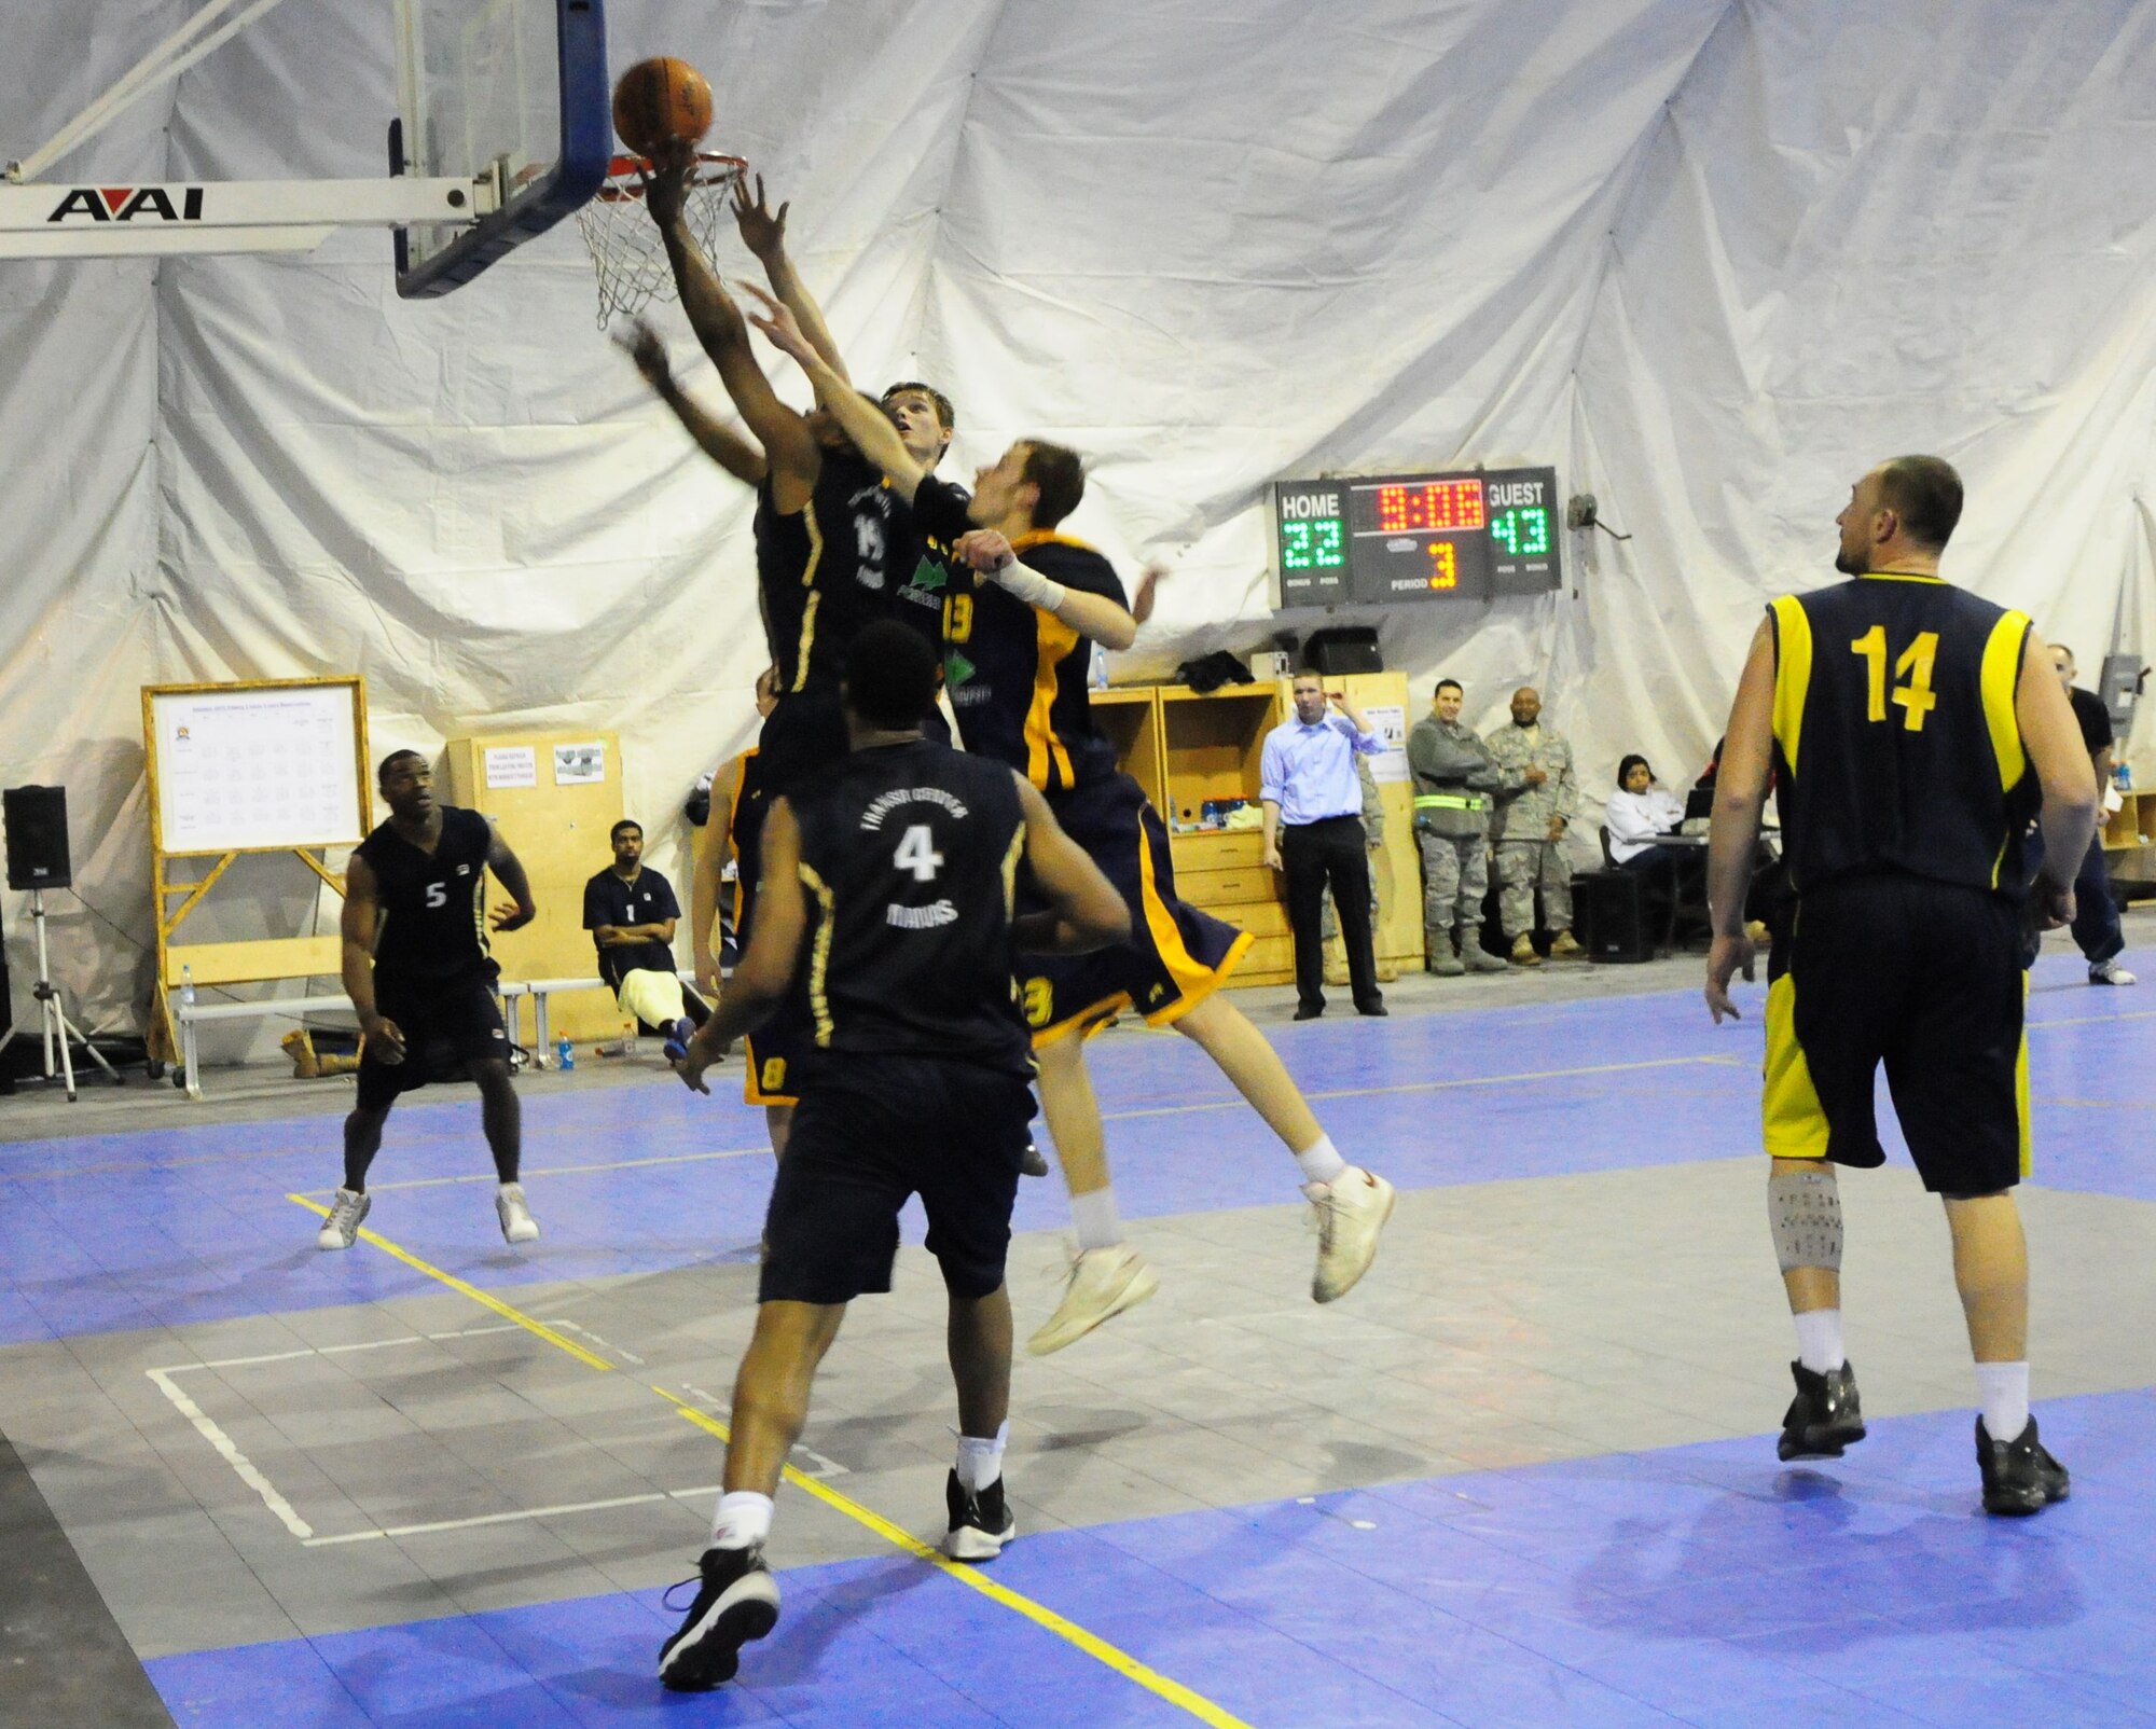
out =
[[[142,707],[162,852],[338,847],[367,836],[358,679],[151,686]]]

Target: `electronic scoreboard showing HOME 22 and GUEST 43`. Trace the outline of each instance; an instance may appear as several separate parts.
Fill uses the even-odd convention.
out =
[[[1274,481],[1281,606],[1563,586],[1554,468]]]

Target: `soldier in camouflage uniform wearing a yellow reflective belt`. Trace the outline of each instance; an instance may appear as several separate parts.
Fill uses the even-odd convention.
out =
[[[1440,977],[1503,972],[1481,946],[1481,903],[1490,890],[1490,804],[1496,759],[1460,720],[1457,679],[1438,679],[1429,714],[1408,733],[1414,772],[1414,841],[1423,849],[1423,959]],[[1453,927],[1460,951],[1453,953]]]

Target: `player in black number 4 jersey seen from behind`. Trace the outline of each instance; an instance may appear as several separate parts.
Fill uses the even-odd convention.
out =
[[[852,755],[765,819],[763,905],[718,1013],[677,1065],[703,1069],[806,970],[815,1050],[765,1222],[757,1330],[733,1386],[724,1494],[699,1593],[660,1651],[668,1688],[729,1679],[778,1617],[763,1565],[772,1496],[845,1306],[888,1291],[899,1209],[927,1212],[951,1300],[957,1462],[944,1552],[990,1561],[1015,1535],[1003,1492],[1011,1300],[1005,1255],[1033,1117],[1015,951],[1115,942],[1130,914],[1003,763],[921,735],[934,651],[903,625],[865,630],[845,666]],[[1018,916],[1026,869],[1046,910]]]

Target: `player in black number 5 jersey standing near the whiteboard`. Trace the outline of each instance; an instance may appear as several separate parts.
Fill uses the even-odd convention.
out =
[[[494,1209],[502,1237],[539,1235],[517,1181],[520,1110],[509,1082],[509,1033],[487,951],[487,871],[511,899],[494,908],[496,931],[535,916],[530,882],[476,811],[433,802],[433,776],[416,750],[382,759],[375,774],[388,821],[345,864],[345,994],[360,1013],[358,1102],[345,1117],[345,1184],[317,1237],[351,1248],[373,1197],[367,1166],[401,1093],[429,1080],[479,1082],[481,1123],[500,1188]]]

